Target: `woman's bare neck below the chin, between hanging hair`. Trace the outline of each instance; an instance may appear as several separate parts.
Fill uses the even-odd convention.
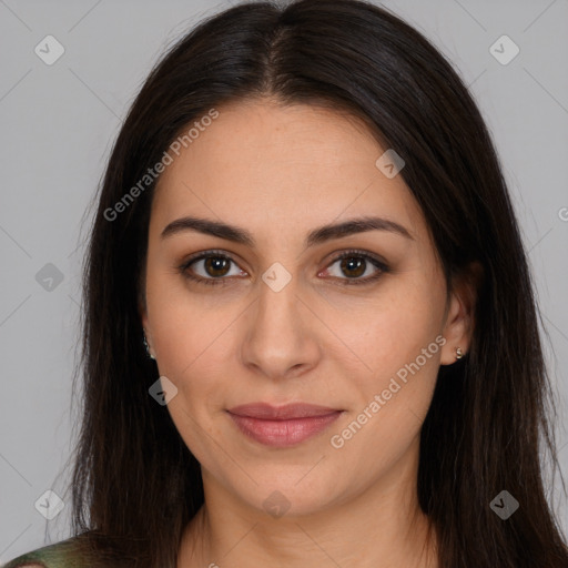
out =
[[[243,504],[203,470],[205,505],[185,529],[178,568],[436,568],[435,530],[417,499],[417,463],[398,465],[356,497],[280,518]]]

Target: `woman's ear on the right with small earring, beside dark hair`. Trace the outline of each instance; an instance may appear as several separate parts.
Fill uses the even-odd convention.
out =
[[[475,306],[483,277],[481,264],[473,262],[452,281],[446,321],[442,333],[446,338],[442,348],[442,365],[452,365],[456,362],[458,347],[464,355],[469,351],[475,327]]]

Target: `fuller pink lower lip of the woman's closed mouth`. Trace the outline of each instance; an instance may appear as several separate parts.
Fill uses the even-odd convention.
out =
[[[229,413],[243,434],[265,446],[276,448],[294,446],[320,434],[334,423],[341,414],[342,410],[337,410],[324,416],[265,420]]]

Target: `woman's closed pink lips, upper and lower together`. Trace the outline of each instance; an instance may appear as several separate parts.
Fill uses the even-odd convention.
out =
[[[324,430],[343,410],[311,404],[271,406],[253,403],[231,408],[229,415],[248,437],[273,447],[300,444]]]

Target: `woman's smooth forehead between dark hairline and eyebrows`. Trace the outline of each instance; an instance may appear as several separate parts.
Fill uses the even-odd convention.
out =
[[[422,212],[402,176],[389,179],[376,165],[388,149],[359,119],[271,100],[217,111],[172,154],[151,224],[163,229],[180,216],[202,214],[252,232],[304,233],[342,216],[377,214],[424,233]]]

